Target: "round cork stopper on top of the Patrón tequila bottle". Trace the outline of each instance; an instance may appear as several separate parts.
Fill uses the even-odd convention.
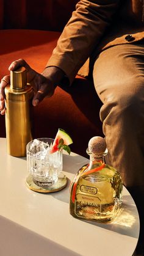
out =
[[[95,136],[88,142],[88,152],[96,154],[103,153],[107,148],[106,140],[103,137]]]

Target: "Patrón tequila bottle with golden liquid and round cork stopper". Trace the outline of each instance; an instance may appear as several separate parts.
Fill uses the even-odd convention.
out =
[[[95,136],[88,142],[90,162],[81,167],[70,189],[70,214],[75,218],[109,222],[118,213],[123,184],[119,172],[104,163],[106,141]]]

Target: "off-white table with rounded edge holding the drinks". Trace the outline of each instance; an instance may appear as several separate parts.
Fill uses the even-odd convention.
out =
[[[140,223],[126,188],[121,214],[110,224],[82,221],[69,213],[70,181],[88,159],[74,153],[64,155],[63,171],[68,185],[51,194],[27,188],[26,159],[7,155],[3,138],[0,163],[1,256],[132,256]]]

